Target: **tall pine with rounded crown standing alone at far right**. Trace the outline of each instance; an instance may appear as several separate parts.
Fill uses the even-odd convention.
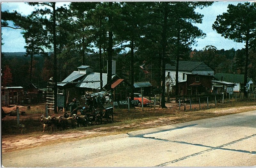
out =
[[[256,3],[245,2],[244,4],[228,5],[228,11],[218,15],[212,28],[221,36],[245,42],[245,65],[244,65],[244,97],[247,97],[246,83],[248,76],[249,44],[252,44],[256,34]]]

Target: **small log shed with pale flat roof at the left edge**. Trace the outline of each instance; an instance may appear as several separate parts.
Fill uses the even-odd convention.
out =
[[[24,103],[24,89],[18,87],[3,87],[2,94],[2,106],[10,106],[12,104],[20,105]]]

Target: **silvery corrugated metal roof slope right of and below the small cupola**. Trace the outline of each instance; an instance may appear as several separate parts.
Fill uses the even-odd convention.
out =
[[[112,75],[112,79],[114,78],[114,76],[116,75]],[[102,73],[102,81],[103,81],[102,87],[104,87],[107,84],[107,79],[108,79],[107,73]],[[81,81],[92,81],[92,80],[93,81],[100,80],[100,73],[87,74]],[[100,88],[100,82],[78,83],[76,87],[97,89],[97,88]]]

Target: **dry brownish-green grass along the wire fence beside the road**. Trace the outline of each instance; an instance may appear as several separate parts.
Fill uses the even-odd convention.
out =
[[[130,112],[128,112],[127,109],[115,109],[114,110],[114,123],[112,124],[103,124],[103,125],[98,125],[98,126],[89,126],[89,127],[80,127],[76,129],[68,129],[64,131],[55,131],[51,132],[50,129],[46,130],[47,134],[55,134],[55,133],[60,133],[60,134],[65,134],[65,133],[71,133],[71,132],[79,132],[79,131],[90,131],[92,129],[97,129],[97,128],[106,128],[109,126],[122,126],[122,125],[130,125],[130,124],[135,124],[135,125],[140,125],[143,122],[148,122],[148,121],[154,121],[157,120],[158,118],[176,118],[174,123],[180,123],[180,122],[187,122],[187,121],[192,121],[192,120],[197,120],[197,119],[204,119],[204,118],[212,118],[212,117],[218,117],[218,116],[223,116],[223,115],[228,115],[228,114],[234,114],[237,113],[215,113],[217,109],[221,110],[226,110],[232,107],[243,107],[243,106],[253,106],[256,105],[256,102],[254,100],[244,100],[242,102],[238,101],[233,101],[230,103],[218,103],[217,106],[212,106],[212,109],[208,110],[201,110],[201,111],[189,111],[189,105],[187,105],[187,110],[184,111],[184,107],[181,108],[181,110],[177,109],[158,109],[154,111],[154,108],[151,106],[145,107],[144,111],[141,110],[141,108],[132,108]],[[31,107],[31,109],[36,109],[34,107]],[[238,112],[245,112],[245,111],[252,111],[256,110],[255,107],[252,108],[241,108],[239,109]],[[37,114],[37,115],[36,115]],[[40,114],[43,114],[43,111],[39,110],[31,110],[31,114],[26,112],[26,118],[20,118],[20,124],[24,124],[26,126],[26,131],[25,134],[28,134],[29,136],[37,136],[40,135],[41,132],[43,131],[42,125],[39,123],[39,117]],[[55,114],[49,114],[50,116],[55,115]],[[62,114],[58,114],[55,116],[59,116]],[[189,117],[188,117],[189,116]],[[172,123],[163,123],[163,125],[167,124],[172,124]],[[21,129],[16,126],[17,121],[16,117],[6,117],[2,119],[2,135],[19,135],[21,133]],[[160,126],[159,124],[156,124],[156,126]],[[146,128],[146,126],[144,126]],[[149,126],[150,127],[150,126]],[[122,128],[126,132],[127,130],[131,129],[134,130],[134,127],[127,128],[124,127]],[[136,128],[137,129],[137,128]],[[111,131],[111,129],[107,129],[108,131]],[[116,129],[116,131],[120,132],[121,129]],[[121,131],[122,132],[122,131]]]

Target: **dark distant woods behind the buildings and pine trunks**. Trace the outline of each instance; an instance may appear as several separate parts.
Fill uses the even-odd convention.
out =
[[[28,86],[29,74],[30,74],[30,56],[25,57],[26,52],[4,52],[1,55],[1,67],[3,74],[11,74],[12,82],[10,86]],[[143,57],[143,53],[135,52],[134,57],[134,81],[150,81],[154,86],[161,86],[160,82],[160,66],[156,59],[152,60],[151,57]],[[244,74],[244,49],[242,50],[217,50],[214,46],[208,46],[204,50],[193,50],[184,57],[186,61],[203,61],[215,70],[215,73],[234,73]],[[124,79],[130,81],[130,55],[128,54],[116,54],[113,59],[117,61],[116,73]],[[94,72],[100,72],[99,67],[99,54],[86,54],[85,65],[92,66]],[[168,57],[166,63],[174,60],[173,57]],[[143,73],[140,66],[145,62],[145,68],[149,71],[149,74]],[[102,55],[103,73],[107,72],[107,52]],[[82,57],[79,54],[73,53],[67,58],[57,59],[58,79],[62,81],[70,73],[77,70],[77,67],[82,65]],[[9,72],[6,71],[6,66],[9,67]],[[47,83],[50,77],[53,76],[53,59],[52,54],[49,53],[49,57],[35,55],[33,57],[33,74],[32,83],[40,85]],[[256,80],[256,59],[255,54],[250,55],[248,76],[253,80]],[[7,68],[8,69],[8,68]],[[8,75],[8,78],[10,75]],[[6,80],[6,79],[5,79]],[[3,81],[3,76],[2,76]]]

